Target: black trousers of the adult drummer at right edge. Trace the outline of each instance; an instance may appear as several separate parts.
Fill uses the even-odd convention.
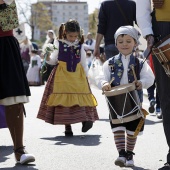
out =
[[[156,35],[160,35],[161,39],[170,34],[170,22],[156,22],[153,30]],[[169,146],[167,155],[167,162],[170,163],[170,77],[168,77],[157,60],[156,56],[153,56],[153,63],[155,69],[156,83],[158,94],[160,98],[160,104],[163,115],[163,127]]]

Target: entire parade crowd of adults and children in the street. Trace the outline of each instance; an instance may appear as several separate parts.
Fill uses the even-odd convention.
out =
[[[99,119],[89,76],[106,95],[108,118],[118,151],[115,165],[134,166],[134,148],[137,136],[144,130],[147,114],[142,106],[143,89],[148,92],[148,111],[154,113],[156,110],[157,118],[163,119],[170,149],[170,79],[162,67],[163,61],[161,64],[158,56],[151,54],[156,43],[170,34],[170,2],[152,2],[153,8],[151,0],[103,1],[99,8],[96,38],[90,32],[83,35],[78,21],[69,19],[60,25],[58,33],[47,31],[41,54],[27,36],[18,43],[12,32],[16,25],[6,30],[0,25],[0,47],[3,47],[0,52],[0,80],[3,80],[0,81],[0,128],[9,128],[18,163],[35,161],[35,156],[28,154],[23,144],[24,103],[29,102],[29,86],[45,84],[37,118],[53,125],[64,125],[65,136],[71,137],[74,136],[72,124],[82,123],[81,131],[85,133]],[[15,6],[15,0],[0,0],[0,12],[11,4]],[[134,27],[135,23],[147,41],[144,53],[139,50],[141,33]],[[98,63],[100,67],[93,76]],[[122,97],[115,98],[113,94],[107,97],[119,87],[132,91],[126,92],[129,97],[128,106],[125,106],[128,118],[119,115],[123,105],[118,111],[112,109],[115,100],[123,101]],[[136,103],[138,109],[132,111]],[[167,163],[159,170],[168,169],[169,150]]]

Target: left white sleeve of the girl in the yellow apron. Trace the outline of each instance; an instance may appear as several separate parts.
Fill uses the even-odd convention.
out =
[[[46,61],[46,63],[50,64],[50,65],[56,65],[57,61],[58,61],[58,51],[59,51],[59,42],[58,42],[58,40],[54,41],[54,45],[57,48],[57,50],[54,50],[50,55],[50,59],[48,61]]]

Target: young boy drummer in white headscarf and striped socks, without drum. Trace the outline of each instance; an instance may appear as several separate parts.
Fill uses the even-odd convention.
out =
[[[154,82],[154,75],[149,65],[142,59],[135,57],[134,50],[139,45],[140,33],[132,26],[120,27],[115,35],[115,44],[119,54],[108,59],[103,65],[103,73],[100,75],[100,86],[103,91],[110,91],[111,87],[135,83],[140,102],[142,102],[142,88],[150,87]],[[132,74],[131,66],[135,68],[135,76]],[[111,80],[113,80],[111,82]],[[134,136],[135,130],[141,118],[126,123],[113,124],[110,121],[114,134],[116,148],[119,157],[115,160],[118,166],[134,166],[133,150],[137,137]],[[144,125],[141,127],[138,135],[142,134]],[[126,133],[126,135],[125,135]]]

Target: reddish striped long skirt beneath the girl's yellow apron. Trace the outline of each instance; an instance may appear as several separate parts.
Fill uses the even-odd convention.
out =
[[[49,95],[53,92],[54,76],[57,66],[51,72],[51,75],[47,81],[45,91],[42,97],[40,108],[37,118],[44,120],[47,123],[53,125],[65,125],[73,124],[84,121],[98,120],[98,114],[96,107],[63,107],[63,106],[47,106],[46,102]]]

